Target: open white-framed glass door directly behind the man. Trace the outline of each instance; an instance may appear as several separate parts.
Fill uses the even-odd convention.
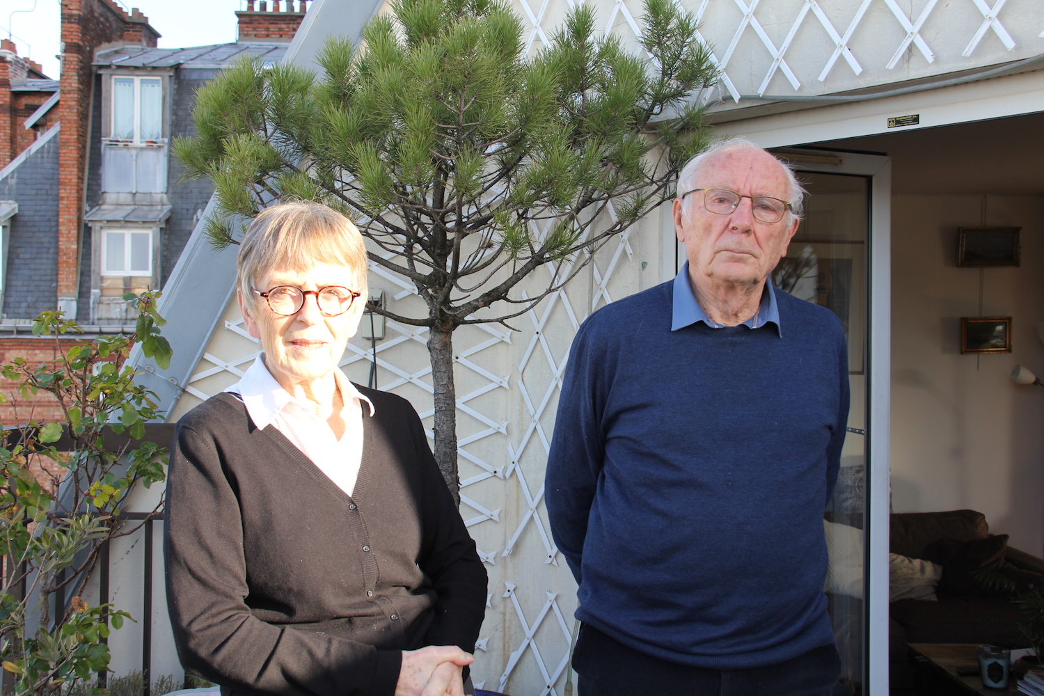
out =
[[[891,165],[861,153],[778,154],[800,170],[808,196],[773,280],[836,314],[849,344],[849,433],[824,514],[843,681],[853,694],[886,696]]]

